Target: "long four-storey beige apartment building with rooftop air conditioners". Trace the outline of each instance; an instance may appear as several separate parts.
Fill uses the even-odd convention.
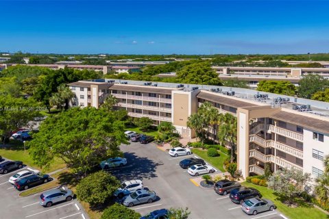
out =
[[[99,107],[108,94],[118,109],[132,117],[147,116],[158,125],[173,123],[184,138],[194,138],[186,127],[188,116],[210,102],[221,113],[238,120],[238,168],[244,177],[271,169],[298,168],[313,177],[323,174],[329,154],[329,103],[298,99],[243,88],[178,83],[97,79],[69,83],[73,105]],[[279,100],[279,101],[278,101]]]

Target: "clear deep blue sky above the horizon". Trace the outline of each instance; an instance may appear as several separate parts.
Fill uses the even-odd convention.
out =
[[[1,1],[0,51],[328,53],[329,1]]]

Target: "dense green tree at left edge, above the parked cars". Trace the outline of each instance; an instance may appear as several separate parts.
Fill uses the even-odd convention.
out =
[[[29,121],[40,116],[38,103],[33,99],[14,98],[13,96],[0,95],[0,134],[2,142],[10,138],[12,131],[27,127]]]

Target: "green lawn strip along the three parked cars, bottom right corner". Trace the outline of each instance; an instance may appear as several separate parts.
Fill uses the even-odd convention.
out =
[[[270,190],[267,187],[263,187],[260,185],[254,185],[252,183],[243,182],[242,185],[247,187],[256,188],[259,190],[260,194],[263,195],[263,198],[268,198],[273,201],[278,207],[278,211],[282,212],[284,216],[287,216],[290,219],[324,219],[328,218],[324,212],[320,211],[315,207],[288,207],[284,205],[281,201],[277,200],[278,196],[273,194],[273,190]]]

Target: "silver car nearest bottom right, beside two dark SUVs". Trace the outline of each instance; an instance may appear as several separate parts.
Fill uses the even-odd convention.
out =
[[[242,203],[241,208],[247,214],[256,215],[263,211],[273,211],[276,208],[276,205],[268,199],[250,198]]]

